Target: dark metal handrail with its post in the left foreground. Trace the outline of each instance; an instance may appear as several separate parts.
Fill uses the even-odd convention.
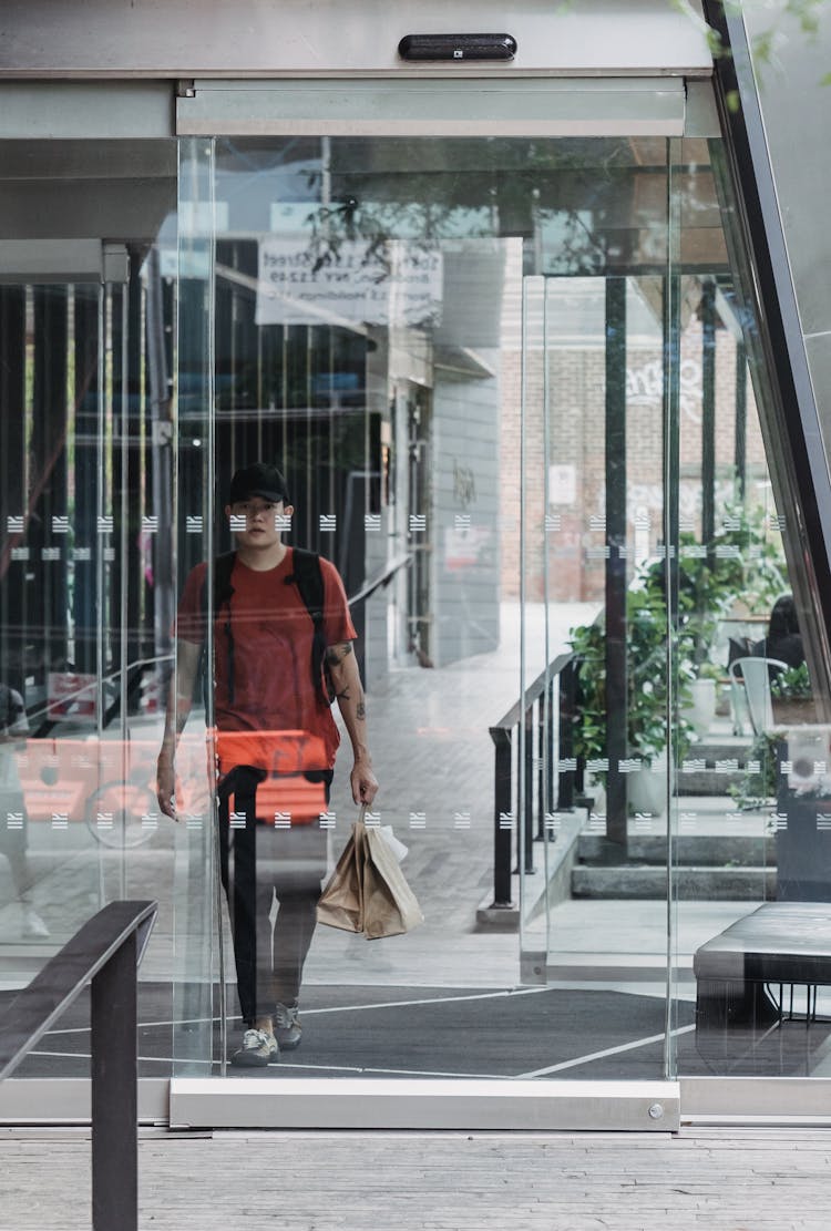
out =
[[[90,984],[94,1231],[138,1231],[138,965],[158,902],[94,915],[0,1016],[0,1081]]]

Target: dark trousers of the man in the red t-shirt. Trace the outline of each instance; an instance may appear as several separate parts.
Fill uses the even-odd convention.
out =
[[[326,831],[318,821],[279,830],[256,820],[256,788],[262,777],[259,769],[238,766],[219,792],[220,874],[231,918],[240,1009],[249,1025],[257,1017],[272,1017],[276,1003],[295,1003],[326,872]],[[331,773],[323,777],[326,800],[331,779]],[[272,931],[275,897],[279,907]]]

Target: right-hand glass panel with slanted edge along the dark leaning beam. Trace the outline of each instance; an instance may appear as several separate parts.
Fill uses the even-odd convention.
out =
[[[682,708],[672,1062],[681,1073],[822,1075],[827,1006],[799,956],[829,899],[827,729],[816,725],[820,676],[806,661],[813,574],[724,150],[710,142],[703,153],[684,142],[673,167]],[[712,219],[717,243],[693,279],[683,238],[694,217]],[[686,398],[684,366],[699,372]]]

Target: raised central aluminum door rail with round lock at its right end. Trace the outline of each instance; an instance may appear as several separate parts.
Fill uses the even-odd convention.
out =
[[[171,1128],[630,1130],[680,1128],[676,1082],[174,1077]]]

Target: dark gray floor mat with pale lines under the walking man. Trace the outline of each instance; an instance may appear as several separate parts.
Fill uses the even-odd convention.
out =
[[[187,988],[176,990],[177,1013]],[[193,1006],[207,1001],[191,988]],[[12,998],[0,993],[0,1007]],[[214,990],[214,1057],[219,1054],[218,996]],[[229,988],[229,1011],[238,1012]],[[208,1008],[202,1024],[174,1032],[170,984],[139,985],[139,1071],[167,1076],[176,1057],[179,1073],[204,1075],[199,1060]],[[664,1076],[664,1002],[616,991],[561,988],[309,986],[302,1002],[303,1043],[284,1053],[268,1076],[356,1077],[539,1077],[556,1080],[660,1080]],[[678,1072],[712,1073],[696,1051],[694,1006],[676,1006],[673,1029]],[[829,1023],[785,1023],[765,1040],[735,1034],[733,1075],[804,1075],[811,1055],[827,1038]],[[239,1017],[228,1027],[229,1049],[241,1035]],[[755,1041],[755,1046],[751,1043]],[[214,1061],[213,1071],[218,1071]],[[263,1070],[229,1069],[235,1076]],[[89,1073],[89,1003],[74,1004],[18,1070],[20,1077],[80,1077]]]

